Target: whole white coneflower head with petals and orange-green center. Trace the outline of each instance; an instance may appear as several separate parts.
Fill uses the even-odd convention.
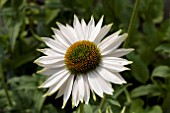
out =
[[[44,67],[39,73],[49,78],[40,88],[49,88],[45,96],[57,91],[56,98],[63,95],[63,107],[70,95],[73,106],[88,104],[90,91],[103,97],[104,93],[112,95],[111,83],[126,83],[119,72],[128,70],[124,65],[132,62],[119,57],[133,49],[117,49],[127,37],[126,33],[119,35],[121,30],[104,38],[112,24],[101,27],[102,22],[103,16],[96,25],[93,17],[86,24],[74,16],[73,27],[57,23],[53,39],[42,38],[49,48],[39,49],[46,56],[35,63]]]

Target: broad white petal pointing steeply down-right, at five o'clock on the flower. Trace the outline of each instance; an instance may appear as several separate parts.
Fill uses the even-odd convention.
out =
[[[87,73],[90,88],[100,97],[103,97],[103,90],[100,87],[100,81],[98,81],[98,76],[92,71]]]

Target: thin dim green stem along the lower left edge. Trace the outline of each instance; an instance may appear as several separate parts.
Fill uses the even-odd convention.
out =
[[[11,101],[11,98],[10,98],[9,92],[8,92],[8,85],[7,85],[7,82],[5,81],[5,76],[4,76],[3,71],[2,71],[1,62],[0,62],[0,76],[2,77],[2,85],[4,87],[6,98],[8,100],[9,105],[12,106],[12,101]]]

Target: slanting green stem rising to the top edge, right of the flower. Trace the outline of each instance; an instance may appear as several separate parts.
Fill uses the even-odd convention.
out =
[[[135,6],[134,6],[134,9],[133,9],[133,13],[132,13],[132,16],[131,16],[131,19],[130,19],[130,23],[129,23],[129,27],[128,27],[128,37],[127,39],[125,40],[125,43],[123,44],[123,47],[125,48],[129,41],[130,41],[130,36],[131,36],[131,33],[133,31],[133,27],[134,27],[134,23],[135,23],[135,18],[136,18],[136,14],[138,12],[138,8],[139,8],[139,3],[140,3],[140,0],[136,0],[135,2]]]

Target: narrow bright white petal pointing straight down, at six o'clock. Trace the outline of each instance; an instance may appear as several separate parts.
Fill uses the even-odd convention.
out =
[[[83,76],[82,75],[78,75],[77,76],[77,85],[78,85],[78,92],[79,92],[79,98],[80,101],[83,102],[83,98],[84,98],[84,81],[83,81]]]

